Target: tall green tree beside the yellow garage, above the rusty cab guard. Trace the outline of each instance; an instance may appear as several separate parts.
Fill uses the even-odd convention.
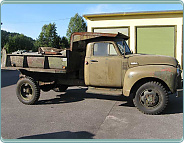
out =
[[[71,37],[72,33],[74,33],[74,32],[86,32],[86,31],[87,31],[86,22],[84,21],[82,16],[80,16],[78,13],[76,13],[75,16],[71,17],[71,19],[70,19],[66,36],[68,38],[68,41],[70,42],[70,37]]]

